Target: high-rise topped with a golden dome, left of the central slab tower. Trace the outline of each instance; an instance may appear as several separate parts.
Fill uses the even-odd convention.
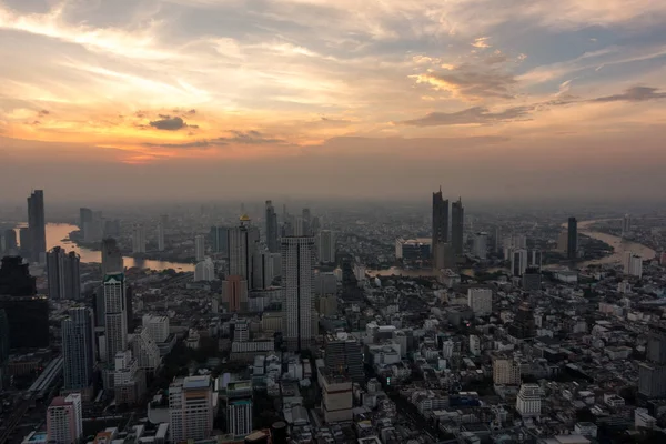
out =
[[[246,214],[240,222],[239,226],[229,230],[229,274],[238,274],[252,285],[252,261],[258,253],[260,234]]]

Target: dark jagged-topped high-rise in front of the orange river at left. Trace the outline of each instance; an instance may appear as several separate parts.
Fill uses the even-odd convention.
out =
[[[77,253],[72,251],[68,254],[60,246],[54,246],[47,253],[49,299],[53,301],[81,299],[80,262],[81,259]]]

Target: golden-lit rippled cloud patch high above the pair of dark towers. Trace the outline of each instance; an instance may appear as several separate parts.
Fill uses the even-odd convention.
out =
[[[462,64],[451,70],[426,72],[414,77],[417,83],[428,83],[436,90],[451,92],[454,97],[475,101],[487,98],[513,99],[513,74],[492,68]]]

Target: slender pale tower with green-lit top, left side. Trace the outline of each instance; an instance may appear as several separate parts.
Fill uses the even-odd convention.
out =
[[[123,273],[104,276],[104,324],[107,329],[107,356],[113,360],[118,352],[128,349],[127,287]]]

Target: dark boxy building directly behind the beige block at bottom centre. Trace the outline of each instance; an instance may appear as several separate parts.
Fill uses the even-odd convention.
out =
[[[346,333],[324,337],[324,365],[329,374],[347,376],[352,382],[363,383],[363,346]]]

